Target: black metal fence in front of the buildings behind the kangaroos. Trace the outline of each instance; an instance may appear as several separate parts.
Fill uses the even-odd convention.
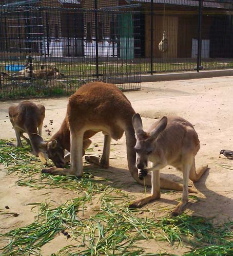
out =
[[[0,0],[0,98],[233,67],[232,1]]]

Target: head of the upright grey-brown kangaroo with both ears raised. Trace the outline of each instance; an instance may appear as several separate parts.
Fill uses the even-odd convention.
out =
[[[134,147],[137,155],[136,166],[138,169],[143,170],[148,166],[148,161],[156,149],[156,139],[166,128],[167,117],[163,117],[150,133],[143,130],[142,119],[139,114],[135,114],[132,117],[132,125],[137,139]]]

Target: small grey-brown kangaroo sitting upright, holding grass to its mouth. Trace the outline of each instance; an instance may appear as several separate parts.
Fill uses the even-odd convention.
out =
[[[139,114],[133,116],[132,124],[137,139],[134,148],[139,176],[146,176],[151,172],[152,187],[150,196],[136,200],[130,208],[138,208],[160,198],[160,170],[169,164],[183,172],[182,199],[171,213],[173,216],[181,214],[188,203],[188,179],[198,181],[208,168],[207,165],[198,171],[195,168],[195,156],[200,149],[198,134],[191,123],[178,116],[163,117],[153,123],[147,132],[143,130]],[[152,163],[152,167],[145,169],[148,161]]]

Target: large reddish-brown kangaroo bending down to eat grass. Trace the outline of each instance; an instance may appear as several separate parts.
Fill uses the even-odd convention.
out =
[[[82,156],[91,143],[89,138],[101,131],[104,134],[104,149],[101,159],[86,156],[86,160],[107,168],[109,167],[111,138],[118,140],[125,132],[129,171],[132,177],[143,185],[144,182],[139,179],[138,169],[135,166],[136,154],[133,147],[136,139],[132,126],[134,114],[135,111],[131,103],[115,85],[102,82],[83,85],[70,96],[66,117],[60,130],[50,141],[44,142],[40,136],[34,135],[37,137],[40,147],[47,151],[48,157],[53,160],[56,167],[59,167],[43,169],[42,172],[81,177],[83,174]],[[70,169],[63,168],[69,157],[64,158],[64,149],[70,152]],[[150,175],[145,177],[145,182],[146,185],[151,185]],[[181,184],[164,178],[161,178],[161,187],[182,190]],[[192,190],[190,189],[190,191]]]

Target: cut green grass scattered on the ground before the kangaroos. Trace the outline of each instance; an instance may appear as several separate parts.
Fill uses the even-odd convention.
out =
[[[52,176],[42,174],[43,165],[31,154],[30,147],[14,148],[0,140],[0,163],[9,174],[18,175],[16,185],[34,189],[63,188],[79,190],[79,197],[69,199],[59,207],[46,203],[30,204],[39,207],[35,221],[25,227],[16,228],[1,239],[9,243],[2,248],[3,256],[41,255],[41,247],[52,241],[61,230],[67,230],[76,245],[61,248],[53,256],[64,255],[167,255],[169,253],[146,253],[139,242],[157,241],[171,245],[189,246],[184,256],[222,256],[231,254],[233,248],[233,222],[214,226],[211,219],[182,214],[177,217],[154,217],[149,209],[148,216],[141,210],[130,210],[133,198],[122,190],[112,187],[109,181],[93,177],[86,170],[84,177]],[[27,162],[27,164],[25,164]],[[197,197],[192,197],[198,200]],[[86,216],[87,206],[98,200],[95,210]],[[149,207],[148,207],[149,208]],[[72,243],[73,244],[73,243]],[[188,249],[187,249],[188,250]]]

